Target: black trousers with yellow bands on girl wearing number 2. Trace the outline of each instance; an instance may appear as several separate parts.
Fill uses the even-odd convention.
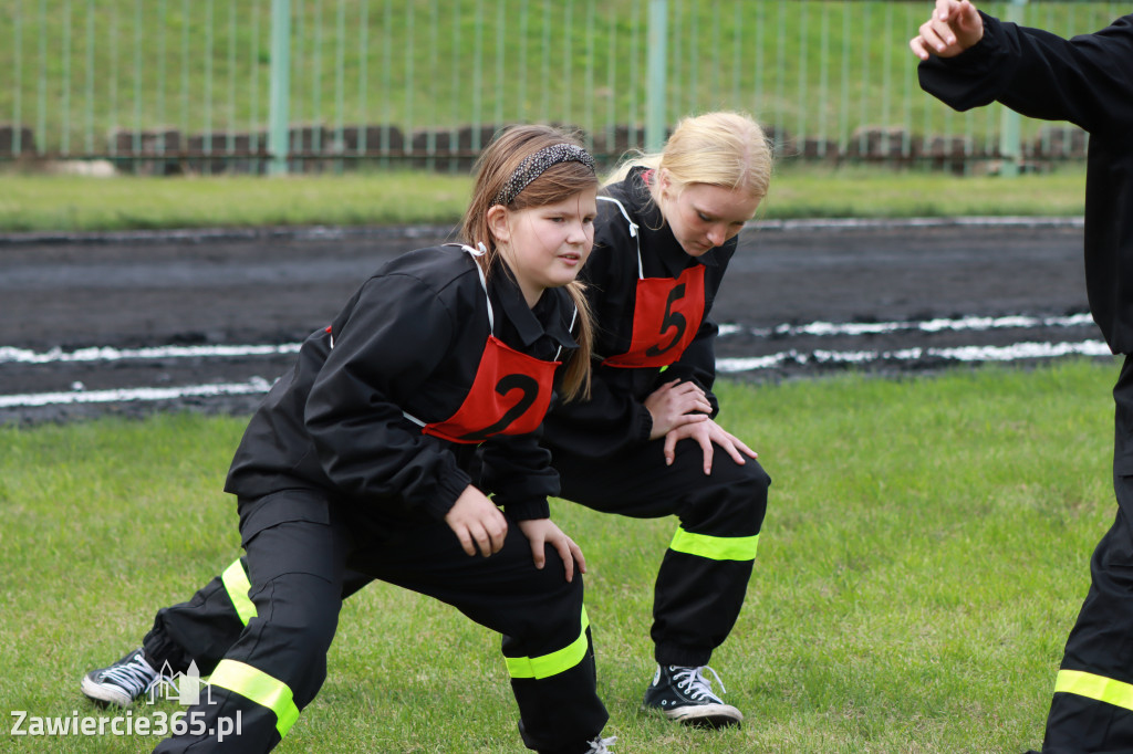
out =
[[[356,537],[356,523],[316,494],[278,496],[291,520],[273,521],[265,507],[258,522],[241,521],[245,557],[188,602],[160,610],[145,637],[156,666],[168,661],[184,671],[196,662],[210,676],[207,695],[186,711],[193,728],[155,752],[245,754],[279,744],[326,677],[344,594],[373,579],[434,597],[503,634],[529,748],[585,751],[582,743],[602,731],[608,716],[596,693],[582,581],[577,572],[565,581],[554,548],[536,569],[514,522],[503,549],[488,558],[466,555],[443,522]],[[343,586],[344,576],[353,585]],[[231,730],[220,723],[224,719],[239,719],[240,735],[223,742],[193,735]]]

